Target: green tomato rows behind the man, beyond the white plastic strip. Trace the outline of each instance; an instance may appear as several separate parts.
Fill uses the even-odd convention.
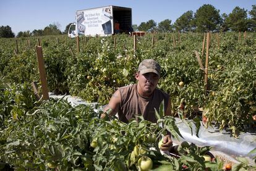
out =
[[[236,33],[220,34],[219,46],[216,35],[211,35],[207,94],[203,71],[194,54],[194,50],[202,50],[203,35],[154,34],[153,48],[152,36],[137,37],[135,52],[133,40],[127,35],[116,36],[115,48],[113,37],[80,37],[80,52],[77,52],[75,39],[68,39],[66,35],[41,37],[49,91],[107,104],[118,87],[135,83],[134,73],[140,61],[152,58],[161,65],[158,88],[170,94],[174,115],[181,112],[184,117],[193,119],[200,113],[199,108],[203,108],[210,121],[207,124],[220,125],[221,129],[233,131],[234,136],[254,128],[254,33],[248,33],[246,39],[239,41]],[[15,48],[15,40],[0,41],[2,80],[16,84],[39,81],[36,52],[32,48],[37,38],[30,38],[30,46],[27,40],[19,39],[18,54],[10,48]],[[202,62],[205,62],[204,57]],[[180,81],[184,86],[179,86]],[[246,100],[250,104],[246,104]],[[184,109],[179,111],[181,106]],[[235,120],[237,116],[242,122]]]

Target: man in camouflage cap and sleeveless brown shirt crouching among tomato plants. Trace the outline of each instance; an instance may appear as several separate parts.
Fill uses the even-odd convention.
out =
[[[109,115],[118,114],[119,120],[129,122],[129,119],[136,115],[143,115],[145,120],[156,123],[155,109],[158,110],[164,101],[165,115],[171,115],[171,101],[169,95],[156,88],[160,79],[160,65],[153,59],[145,59],[139,65],[139,70],[135,73],[137,84],[124,86],[111,97],[101,118],[105,117],[105,112],[109,109]],[[164,136],[161,149],[169,151],[173,146],[171,134]]]

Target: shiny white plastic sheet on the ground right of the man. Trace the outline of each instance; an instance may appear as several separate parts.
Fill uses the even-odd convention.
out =
[[[176,119],[176,121],[180,122],[181,120]],[[238,138],[234,138],[232,133],[228,131],[220,131],[214,126],[205,128],[201,123],[197,137],[195,134],[195,125],[193,125],[193,135],[185,123],[180,123],[177,126],[184,138],[182,141],[189,141],[198,146],[211,146],[214,150],[224,152],[231,156],[253,157],[252,155],[248,155],[248,153],[256,148],[256,132],[241,133]]]

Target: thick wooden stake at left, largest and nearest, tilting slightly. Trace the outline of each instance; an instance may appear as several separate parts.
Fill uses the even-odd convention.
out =
[[[36,46],[36,54],[38,60],[38,69],[40,73],[41,86],[43,91],[43,99],[47,100],[49,99],[49,94],[45,72],[45,61],[43,60],[43,49],[41,46]]]

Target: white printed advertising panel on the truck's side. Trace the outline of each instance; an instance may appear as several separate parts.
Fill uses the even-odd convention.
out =
[[[113,30],[113,9],[100,7],[79,10],[75,14],[79,35],[111,35]]]

